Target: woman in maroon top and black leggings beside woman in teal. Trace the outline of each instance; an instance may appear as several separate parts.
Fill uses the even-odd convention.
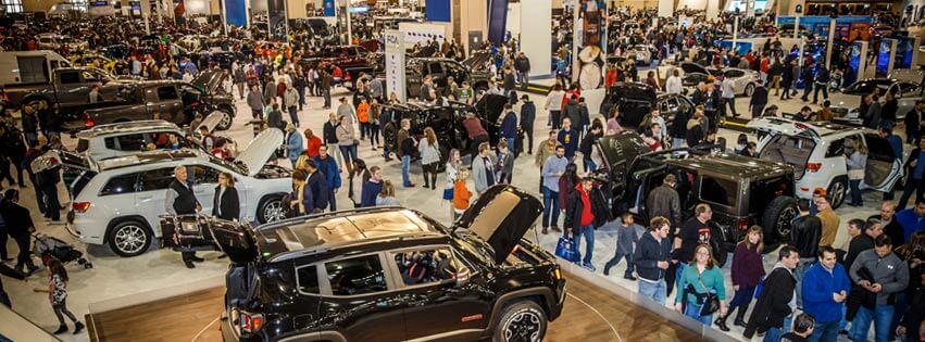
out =
[[[754,289],[764,277],[764,264],[761,262],[761,252],[764,250],[764,229],[761,226],[751,226],[748,232],[742,237],[742,241],[736,244],[736,251],[733,253],[733,289],[736,294],[729,302],[729,311],[716,318],[716,326],[723,331],[729,331],[726,327],[726,318],[733,314],[736,308],[736,326],[745,328],[745,316],[751,299],[754,296]]]

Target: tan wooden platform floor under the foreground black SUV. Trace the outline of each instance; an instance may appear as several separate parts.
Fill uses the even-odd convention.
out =
[[[568,296],[545,341],[700,341],[700,334],[564,273]],[[221,341],[224,288],[87,315],[90,341]]]

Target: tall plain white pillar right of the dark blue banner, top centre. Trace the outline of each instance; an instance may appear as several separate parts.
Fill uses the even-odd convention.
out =
[[[552,73],[552,0],[530,0],[521,5],[521,51],[530,60],[530,77]]]

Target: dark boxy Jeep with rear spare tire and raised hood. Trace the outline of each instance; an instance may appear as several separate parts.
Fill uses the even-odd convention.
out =
[[[675,190],[684,219],[693,216],[697,204],[708,203],[713,210],[716,251],[723,246],[732,252],[752,225],[764,228],[767,244],[789,239],[798,215],[789,165],[697,149],[650,152],[635,132],[605,136],[598,147],[604,162],[598,176],[608,180],[615,213],[629,211],[647,221],[649,191],[672,174],[678,180]],[[716,256],[725,263],[725,253]]]

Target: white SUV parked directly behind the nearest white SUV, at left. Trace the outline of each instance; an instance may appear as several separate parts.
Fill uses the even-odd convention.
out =
[[[217,114],[216,114],[217,113]],[[222,121],[223,113],[215,112],[202,119],[199,125],[213,131]],[[188,137],[179,126],[162,119],[146,119],[99,125],[77,132],[77,152],[86,153],[90,159],[100,161],[110,157],[137,154],[145,151],[151,142],[159,149],[170,148],[168,136],[179,138],[179,145],[188,149],[202,149],[199,143],[199,130],[192,130]],[[207,151],[208,152],[208,151]]]

